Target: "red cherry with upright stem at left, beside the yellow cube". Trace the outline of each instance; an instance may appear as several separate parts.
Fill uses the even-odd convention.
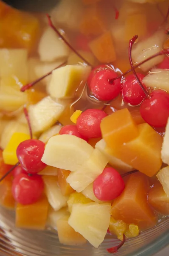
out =
[[[41,158],[45,150],[45,143],[40,140],[25,140],[17,147],[17,158],[20,166],[28,173],[41,172],[46,164]]]

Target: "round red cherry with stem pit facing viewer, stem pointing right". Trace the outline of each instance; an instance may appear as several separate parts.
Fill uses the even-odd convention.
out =
[[[100,70],[93,76],[90,88],[96,99],[109,101],[118,96],[121,91],[121,80],[111,82],[115,77],[117,73],[114,70]]]

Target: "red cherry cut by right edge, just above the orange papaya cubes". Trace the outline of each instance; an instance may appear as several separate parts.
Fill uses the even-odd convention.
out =
[[[169,117],[169,94],[154,90],[149,96],[140,107],[142,118],[154,127],[165,127]]]

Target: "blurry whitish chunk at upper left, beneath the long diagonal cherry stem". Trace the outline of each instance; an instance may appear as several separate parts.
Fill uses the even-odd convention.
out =
[[[48,27],[40,39],[38,52],[41,61],[51,62],[68,58],[69,48],[56,32]]]

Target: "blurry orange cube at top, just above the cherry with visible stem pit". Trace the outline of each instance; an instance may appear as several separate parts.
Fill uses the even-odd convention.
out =
[[[89,43],[95,57],[102,63],[113,62],[116,59],[113,38],[110,32],[105,32],[100,37]]]

